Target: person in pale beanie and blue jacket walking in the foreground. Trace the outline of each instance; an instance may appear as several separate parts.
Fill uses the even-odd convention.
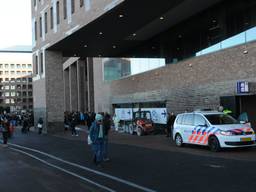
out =
[[[92,123],[89,132],[92,141],[93,162],[97,166],[101,166],[103,161],[104,130],[102,120],[102,115],[96,114],[95,121]]]

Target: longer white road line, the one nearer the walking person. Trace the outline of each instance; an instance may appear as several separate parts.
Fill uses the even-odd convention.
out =
[[[63,159],[58,158],[58,157],[56,157],[54,155],[51,155],[51,154],[48,154],[48,153],[45,153],[45,152],[42,152],[42,151],[39,151],[39,150],[36,150],[36,149],[32,149],[32,148],[24,147],[24,146],[21,146],[21,145],[12,144],[12,143],[9,143],[9,145],[14,146],[14,147],[18,147],[18,148],[21,148],[21,149],[26,149],[26,150],[29,150],[29,151],[33,151],[33,152],[36,152],[36,153],[39,153],[39,154],[42,154],[42,155],[45,155],[45,156],[50,157],[52,159],[58,160],[60,162],[72,165],[74,167],[78,167],[78,168],[83,169],[85,171],[88,171],[88,172],[91,172],[91,173],[94,173],[94,174],[97,174],[97,175],[100,175],[100,176],[112,179],[114,181],[117,181],[117,182],[123,183],[125,185],[128,185],[128,186],[140,189],[140,190],[145,191],[145,192],[156,192],[155,190],[152,190],[152,189],[149,189],[149,188],[137,185],[137,184],[132,183],[130,181],[127,181],[127,180],[124,180],[124,179],[121,179],[121,178],[118,178],[118,177],[115,177],[115,176],[112,176],[112,175],[109,175],[109,174],[106,174],[106,173],[103,173],[103,172],[100,172],[100,171],[96,171],[96,170],[91,169],[89,167],[81,166],[79,164],[63,160]]]

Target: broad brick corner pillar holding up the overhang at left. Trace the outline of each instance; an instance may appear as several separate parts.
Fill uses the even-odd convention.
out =
[[[42,82],[42,84],[40,83]],[[35,102],[40,103],[36,108],[35,123],[41,116],[44,120],[43,132],[63,130],[64,126],[64,81],[63,57],[61,52],[45,51],[45,77],[36,85],[37,96]],[[35,93],[34,92],[34,93]]]

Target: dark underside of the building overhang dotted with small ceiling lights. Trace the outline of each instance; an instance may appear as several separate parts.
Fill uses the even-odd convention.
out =
[[[48,49],[67,57],[142,57],[147,49],[132,50],[220,1],[125,0]]]

